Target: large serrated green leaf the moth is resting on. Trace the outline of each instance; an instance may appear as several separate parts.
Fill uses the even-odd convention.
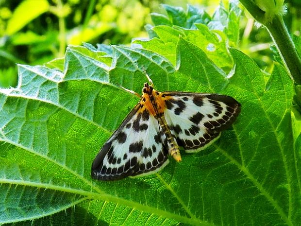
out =
[[[1,224],[300,225],[301,138],[292,132],[286,70],[275,63],[266,82],[247,55],[224,49],[234,61],[226,74],[195,30],[156,29],[169,32],[174,47],[161,52],[173,62],[151,46],[111,53],[86,44],[67,49],[63,71],[18,65],[18,86],[0,89]],[[141,93],[144,69],[159,91],[230,95],[241,114],[209,148],[182,152],[159,173],[94,180],[94,157],[138,102],[120,85]]]

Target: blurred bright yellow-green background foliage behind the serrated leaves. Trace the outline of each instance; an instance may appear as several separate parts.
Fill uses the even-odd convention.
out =
[[[161,3],[195,5],[212,16],[219,0],[0,0],[0,87],[17,85],[16,63],[44,64],[63,57],[67,45],[130,44],[133,38],[148,37],[144,26],[154,21],[150,13],[166,14]],[[300,35],[300,0],[287,4],[285,22],[291,34]],[[241,26],[236,47],[270,72],[268,32],[246,17]]]

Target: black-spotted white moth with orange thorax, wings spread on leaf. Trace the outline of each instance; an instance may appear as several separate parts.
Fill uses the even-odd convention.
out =
[[[144,83],[139,103],[95,157],[91,176],[117,180],[158,172],[168,164],[168,156],[180,162],[179,146],[186,153],[206,148],[234,122],[240,108],[230,96],[159,92]]]

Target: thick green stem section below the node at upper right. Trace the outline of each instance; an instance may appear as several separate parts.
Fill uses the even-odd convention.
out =
[[[301,60],[281,16],[265,24],[294,82],[301,85]]]

